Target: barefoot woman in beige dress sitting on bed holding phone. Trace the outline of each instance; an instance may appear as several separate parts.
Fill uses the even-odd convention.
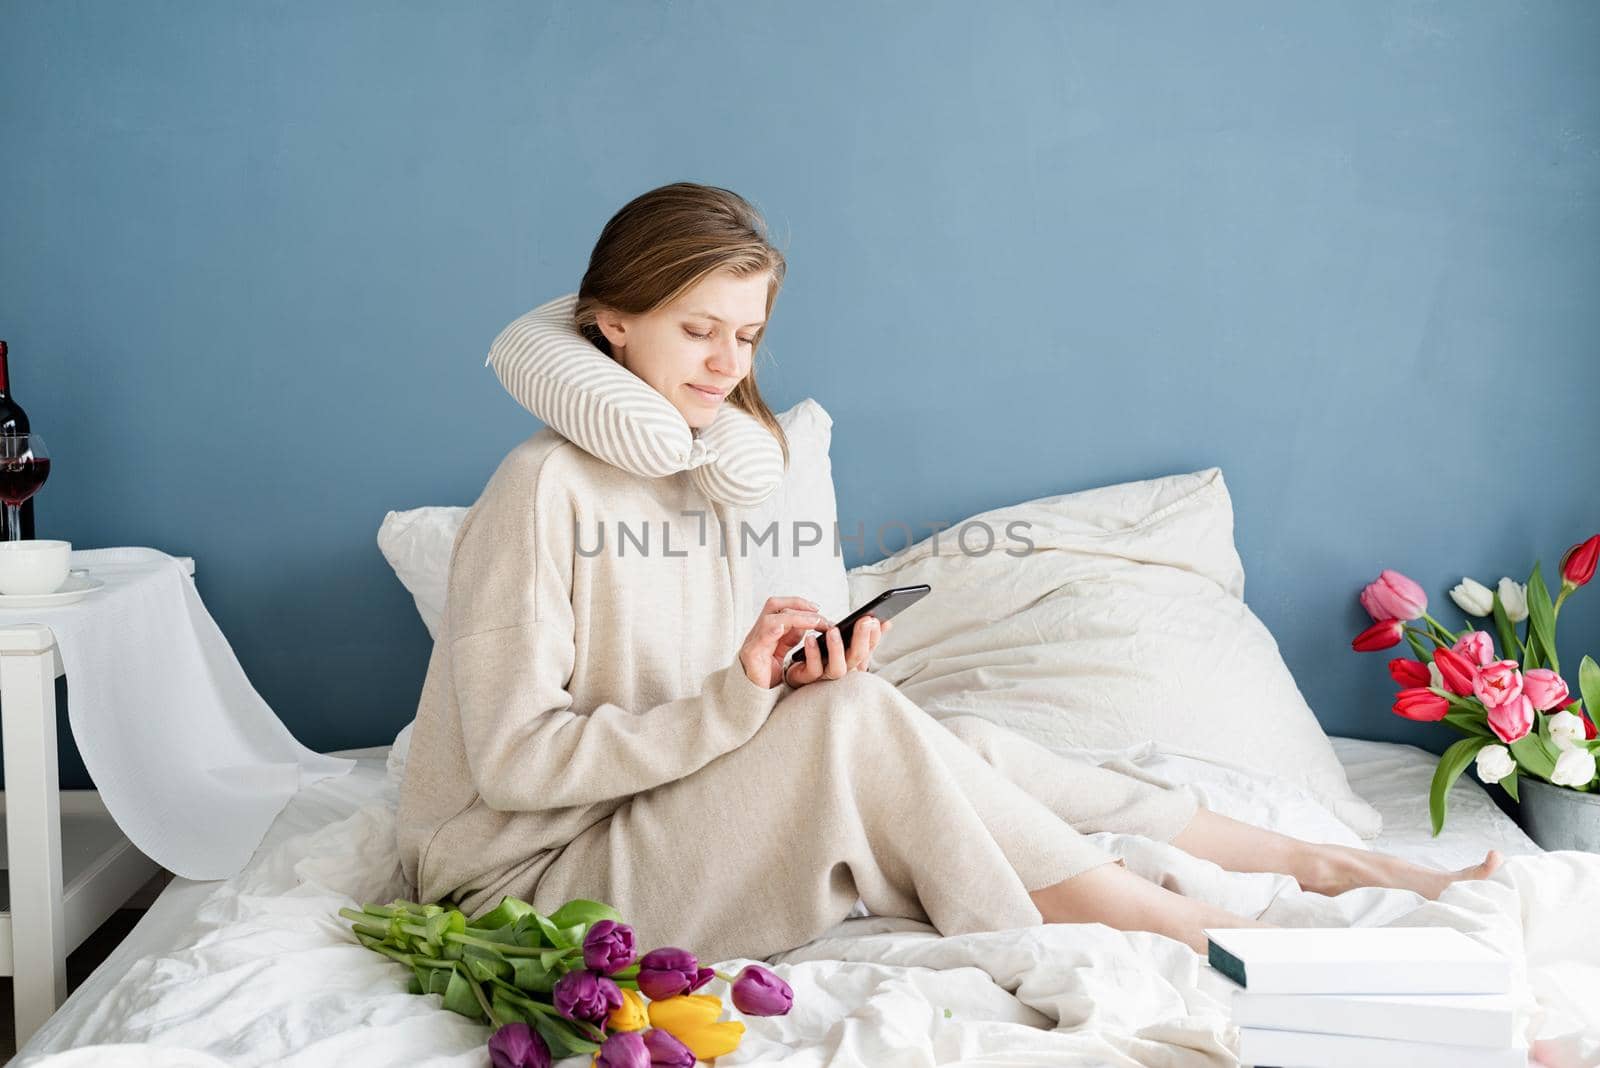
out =
[[[696,432],[734,404],[787,457],[750,374],[782,277],[742,198],[666,185],[606,224],[576,326]],[[1437,897],[1499,863],[1490,852],[1445,873],[1302,843],[1131,766],[1082,766],[974,716],[933,719],[870,673],[893,624],[862,619],[846,654],[803,598],[739,619],[747,560],[704,536],[725,512],[686,472],[640,478],[549,427],[504,459],[456,539],[400,793],[421,900],[470,916],[507,894],[541,911],[606,900],[643,945],[712,961],[802,945],[858,895],[944,934],[1104,923],[1205,951],[1203,927],[1259,924],[1139,878],[1085,835],[1147,835],[1323,894]],[[670,528],[690,548],[587,552],[613,521]]]

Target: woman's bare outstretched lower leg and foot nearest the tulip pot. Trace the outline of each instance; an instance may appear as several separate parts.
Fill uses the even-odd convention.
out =
[[[1200,809],[1173,844],[1229,871],[1293,876],[1301,887],[1330,897],[1360,886],[1390,886],[1435,899],[1456,879],[1483,879],[1501,865],[1491,849],[1482,863],[1440,871],[1368,849],[1301,841],[1210,809]]]

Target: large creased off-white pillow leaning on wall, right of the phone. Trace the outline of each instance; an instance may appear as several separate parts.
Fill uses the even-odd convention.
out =
[[[995,548],[965,555],[966,523]],[[1034,552],[1008,555],[1022,539]],[[931,715],[979,715],[1056,751],[1155,740],[1299,785],[1362,838],[1381,831],[1245,606],[1219,468],[995,508],[933,542],[848,574],[858,604],[933,587],[874,654]],[[968,544],[982,548],[982,528]]]

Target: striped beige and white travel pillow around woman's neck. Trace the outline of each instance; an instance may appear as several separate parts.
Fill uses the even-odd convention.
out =
[[[712,500],[747,508],[784,476],[778,438],[723,403],[696,436],[683,414],[642,377],[600,352],[573,323],[578,294],[541,304],[501,331],[486,366],[547,427],[586,452],[642,478],[690,472]]]

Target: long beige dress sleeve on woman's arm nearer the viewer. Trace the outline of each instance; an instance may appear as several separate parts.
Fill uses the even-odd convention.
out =
[[[560,480],[541,478],[547,457],[518,451],[501,465],[450,569],[445,640],[461,737],[478,795],[499,811],[586,806],[682,779],[749,740],[789,689],[752,683],[730,649],[731,664],[696,694],[645,710],[574,710],[576,505]],[[683,608],[683,590],[661,588],[656,611]],[[626,656],[600,667],[618,678],[637,670]]]

